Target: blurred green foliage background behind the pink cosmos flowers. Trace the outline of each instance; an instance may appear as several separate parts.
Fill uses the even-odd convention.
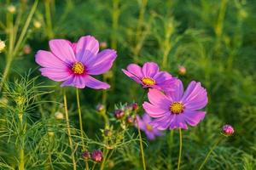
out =
[[[0,2],[3,23],[9,2]],[[20,2],[12,1],[16,8],[25,1]],[[30,0],[24,3],[26,13],[32,3]],[[25,21],[23,17],[21,23]],[[29,68],[33,76],[38,76],[34,54],[38,49],[49,49],[49,39],[66,38],[75,42],[84,35],[92,35],[107,43],[102,48],[118,52],[113,69],[100,77],[112,88],[105,92],[86,88],[81,92],[86,133],[91,138],[96,137],[99,132],[95,129],[103,123],[93,111],[96,104],[107,105],[111,112],[115,103],[131,103],[143,94],[143,89],[125,77],[121,69],[130,63],[143,65],[154,61],[161,70],[180,78],[185,86],[195,80],[207,88],[207,116],[197,127],[184,132],[182,169],[198,167],[225,123],[235,127],[236,133],[217,147],[205,169],[256,169],[256,1],[42,0],[26,41],[12,62],[8,79],[13,80]],[[3,29],[0,37],[8,38]],[[25,54],[25,45],[32,48],[31,53]],[[4,53],[0,54],[1,72],[7,62],[3,56]],[[186,68],[185,74],[179,72],[179,65]],[[44,77],[38,81],[59,85]],[[54,89],[49,99],[61,102],[60,88]],[[76,107],[75,91],[67,90],[72,112]],[[51,105],[48,110],[45,108],[47,116],[53,116],[58,106]],[[75,120],[76,113],[71,114]],[[148,169],[175,169],[178,139],[177,132],[174,134],[174,145],[169,148],[172,153],[168,149],[169,132],[148,143],[145,149]],[[136,151],[136,148],[120,151],[113,168],[139,168]]]

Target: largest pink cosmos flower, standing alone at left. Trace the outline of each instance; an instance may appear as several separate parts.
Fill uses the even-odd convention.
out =
[[[49,41],[50,51],[39,50],[36,62],[41,65],[44,77],[63,86],[76,88],[110,88],[108,83],[96,80],[90,75],[101,75],[108,71],[117,54],[113,49],[99,52],[99,42],[95,37],[80,37],[79,42],[64,39]]]

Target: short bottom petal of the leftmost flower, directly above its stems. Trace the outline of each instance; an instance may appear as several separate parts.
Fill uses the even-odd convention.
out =
[[[61,87],[63,86],[73,86],[76,88],[85,88],[85,80],[83,76],[79,75],[73,75],[73,77],[70,77],[67,79],[67,81],[63,82],[61,84]]]

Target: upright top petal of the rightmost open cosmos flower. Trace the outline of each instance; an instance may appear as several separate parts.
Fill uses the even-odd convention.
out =
[[[179,101],[183,97],[183,82],[176,80],[173,85],[173,91],[166,92],[166,96],[173,101]]]

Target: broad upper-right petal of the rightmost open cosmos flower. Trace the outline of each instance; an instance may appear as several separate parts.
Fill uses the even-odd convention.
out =
[[[201,87],[200,82],[190,82],[182,100],[187,109],[200,110],[208,103],[207,90]]]

